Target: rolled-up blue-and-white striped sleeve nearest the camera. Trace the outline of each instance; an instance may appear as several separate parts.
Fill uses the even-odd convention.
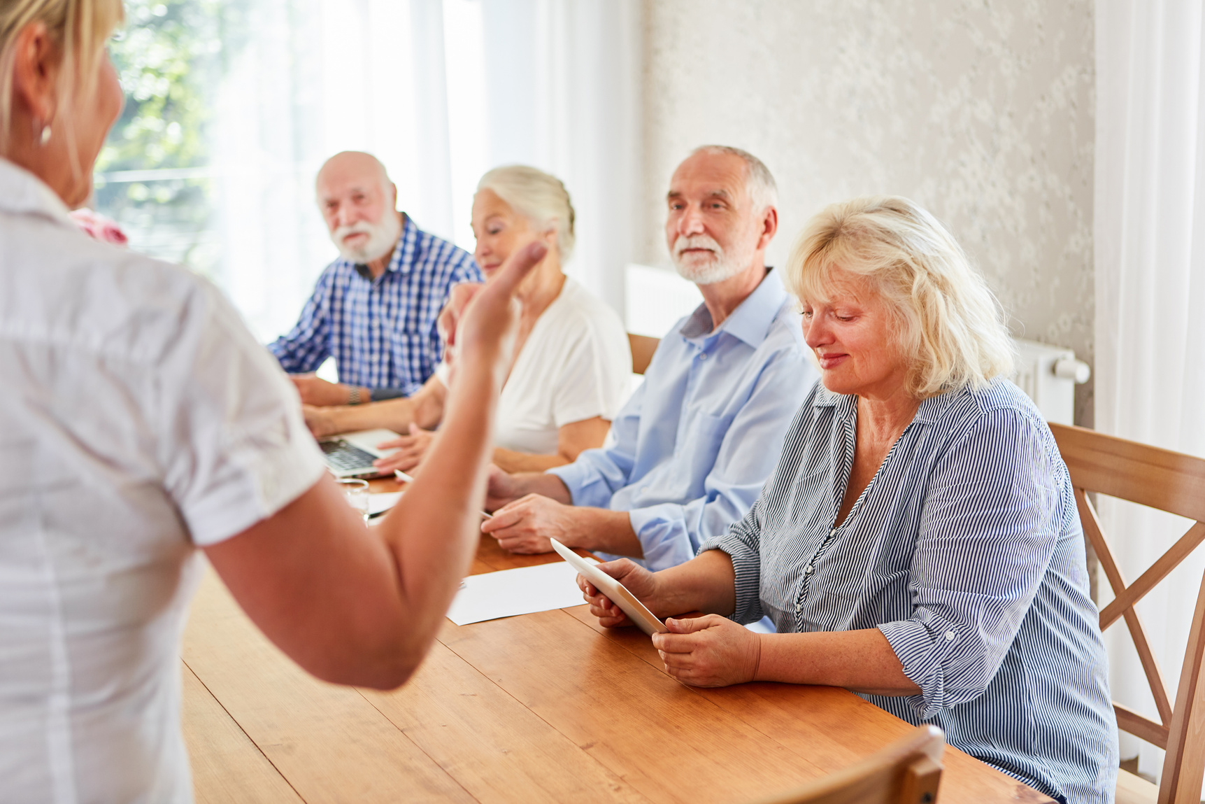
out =
[[[921,717],[974,700],[995,676],[1057,545],[1057,473],[1040,422],[988,412],[930,475],[912,554],[910,618],[878,626],[921,694]]]

